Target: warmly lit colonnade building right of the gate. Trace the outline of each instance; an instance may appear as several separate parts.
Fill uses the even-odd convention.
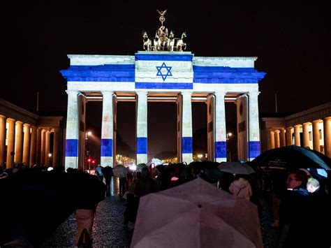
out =
[[[261,118],[262,152],[298,145],[331,157],[331,103],[288,115]]]

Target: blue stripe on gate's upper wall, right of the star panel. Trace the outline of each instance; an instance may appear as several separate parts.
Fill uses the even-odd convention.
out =
[[[193,82],[208,84],[258,83],[264,72],[254,68],[230,68],[226,66],[193,66]]]

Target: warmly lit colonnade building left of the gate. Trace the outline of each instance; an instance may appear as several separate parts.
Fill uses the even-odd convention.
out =
[[[40,117],[0,99],[0,166],[59,166],[64,117]]]

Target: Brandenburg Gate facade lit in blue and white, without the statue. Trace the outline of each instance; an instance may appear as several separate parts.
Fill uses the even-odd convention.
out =
[[[226,161],[225,102],[237,103],[239,159],[260,154],[256,57],[195,57],[191,52],[141,51],[134,56],[68,55],[66,168],[84,163],[87,101],[103,101],[101,166],[112,165],[116,103],[135,101],[136,163],[147,162],[147,101],[177,103],[178,161],[193,160],[192,101],[207,103],[208,159]]]

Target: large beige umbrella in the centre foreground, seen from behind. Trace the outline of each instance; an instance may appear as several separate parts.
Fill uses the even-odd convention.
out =
[[[258,210],[198,178],[140,198],[131,247],[263,247]]]

